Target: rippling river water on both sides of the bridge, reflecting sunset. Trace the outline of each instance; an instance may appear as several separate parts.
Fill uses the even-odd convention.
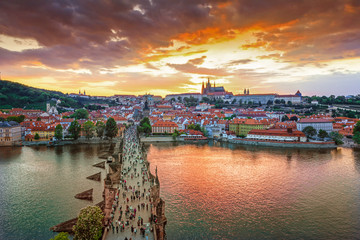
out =
[[[49,228],[101,201],[101,145],[0,148],[0,239]],[[359,239],[360,151],[151,144],[172,239]],[[94,202],[74,195],[94,188]]]

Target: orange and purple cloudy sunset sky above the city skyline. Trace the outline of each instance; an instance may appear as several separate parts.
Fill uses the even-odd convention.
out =
[[[359,0],[2,0],[1,78],[111,96],[360,93]]]

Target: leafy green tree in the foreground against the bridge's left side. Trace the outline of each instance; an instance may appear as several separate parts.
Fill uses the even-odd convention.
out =
[[[88,206],[80,210],[74,226],[75,239],[98,240],[102,233],[103,212],[98,206]]]

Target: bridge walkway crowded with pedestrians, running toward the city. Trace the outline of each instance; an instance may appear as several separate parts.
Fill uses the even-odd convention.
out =
[[[119,232],[126,235],[130,230],[134,238],[137,234],[146,240],[149,238],[153,231],[150,223],[155,219],[151,213],[151,186],[136,127],[133,126],[127,129],[124,135],[122,172],[112,205],[109,232],[113,235]],[[130,239],[132,240],[131,237],[128,240]]]

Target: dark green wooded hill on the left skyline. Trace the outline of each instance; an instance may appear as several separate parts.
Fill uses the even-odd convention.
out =
[[[46,102],[61,100],[63,107],[80,108],[83,103],[57,91],[29,87],[20,83],[0,80],[0,109],[46,109]]]

